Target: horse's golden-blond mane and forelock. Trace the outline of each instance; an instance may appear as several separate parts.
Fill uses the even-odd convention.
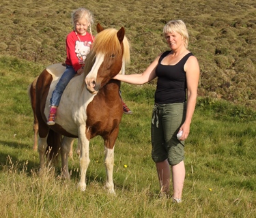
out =
[[[123,67],[124,63],[130,62],[130,44],[124,36],[123,40],[124,46],[124,54],[123,54]],[[100,33],[98,33],[94,39],[94,44],[92,45],[91,52],[87,55],[87,59],[85,59],[85,67],[84,73],[85,77],[89,74],[91,67],[94,65],[95,56],[102,52],[105,54],[113,54],[113,53],[121,53],[122,47],[117,38],[117,30],[116,29],[104,29]]]

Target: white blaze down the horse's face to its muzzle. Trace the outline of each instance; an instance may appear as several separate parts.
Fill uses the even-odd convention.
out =
[[[94,88],[94,85],[95,85],[94,82],[96,82],[98,70],[100,69],[100,65],[102,65],[103,61],[104,61],[104,54],[99,53],[98,55],[96,55],[96,61],[93,67],[91,67],[91,71],[85,78],[85,83],[87,86]]]

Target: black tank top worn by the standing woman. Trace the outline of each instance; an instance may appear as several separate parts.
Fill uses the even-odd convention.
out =
[[[193,54],[191,52],[188,53],[175,65],[162,65],[162,59],[170,52],[164,52],[156,66],[158,81],[155,92],[155,103],[157,104],[186,102],[186,72],[184,71],[184,65]]]

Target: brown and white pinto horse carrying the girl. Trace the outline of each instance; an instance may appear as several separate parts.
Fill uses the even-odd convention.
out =
[[[117,31],[103,29],[98,24],[97,31],[91,52],[85,60],[83,74],[74,76],[63,91],[55,125],[46,124],[48,105],[65,67],[60,63],[46,67],[32,82],[30,98],[34,112],[34,131],[35,135],[37,131],[39,134],[40,169],[45,166],[45,157],[54,158],[60,153],[61,174],[64,178],[70,178],[68,154],[74,138],[78,138],[81,167],[79,188],[85,191],[86,172],[90,161],[89,141],[95,136],[102,136],[106,168],[105,187],[109,193],[115,193],[114,146],[123,110],[119,95],[120,81],[112,78],[119,72],[124,73],[125,63],[130,61],[130,48],[124,27]],[[46,151],[51,155],[46,155]]]

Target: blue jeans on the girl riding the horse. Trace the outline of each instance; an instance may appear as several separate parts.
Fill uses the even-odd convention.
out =
[[[66,65],[66,69],[62,74],[61,78],[59,79],[59,82],[57,83],[50,99],[51,106],[59,106],[61,95],[66,86],[68,85],[68,82],[70,82],[74,75],[76,75],[74,68],[70,65]]]

